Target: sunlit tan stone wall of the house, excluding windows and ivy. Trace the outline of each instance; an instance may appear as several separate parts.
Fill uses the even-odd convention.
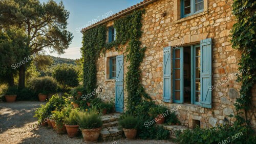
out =
[[[214,127],[223,124],[224,119],[233,122],[228,117],[234,114],[234,102],[239,97],[240,83],[236,82],[238,61],[241,53],[231,48],[230,30],[235,23],[231,16],[232,1],[208,0],[204,6],[204,12],[186,18],[174,19],[177,8],[177,0],[160,0],[145,7],[142,20],[142,46],[146,46],[145,57],[140,69],[141,82],[145,91],[152,99],[169,108],[177,106],[175,103],[162,101],[163,95],[163,48],[167,46],[188,46],[199,44],[200,40],[212,38],[212,85],[217,85],[212,90],[212,108],[203,108],[193,104],[181,104],[177,111],[178,118],[182,124],[193,128],[200,123],[201,127]],[[162,14],[166,13],[165,16]],[[177,17],[177,16],[176,16]],[[107,23],[113,25],[113,21]],[[110,82],[106,73],[108,72],[107,57],[124,54],[124,79],[127,63],[124,50],[116,51],[115,48],[108,50],[106,55],[101,55],[97,64],[98,85]],[[220,83],[221,84],[218,84]],[[124,82],[125,89],[125,82]],[[256,91],[253,91],[255,97]],[[115,85],[111,84],[99,94],[104,100],[115,98]],[[124,99],[126,99],[124,92]],[[255,121],[254,121],[255,124]]]

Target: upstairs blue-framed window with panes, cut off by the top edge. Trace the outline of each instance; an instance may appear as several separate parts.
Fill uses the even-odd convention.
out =
[[[203,0],[181,0],[181,17],[187,17],[204,10]]]

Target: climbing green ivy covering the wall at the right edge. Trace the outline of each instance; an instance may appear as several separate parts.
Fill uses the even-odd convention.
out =
[[[245,8],[240,13],[234,13],[237,23],[232,27],[232,47],[241,51],[242,56],[239,62],[239,70],[245,70],[242,75],[238,75],[238,81],[242,83],[240,98],[235,104],[238,114],[236,116],[240,124],[249,125],[252,115],[248,113],[252,110],[252,87],[256,81],[256,48],[255,48],[255,29],[256,29],[256,1],[234,0],[232,9],[234,12]],[[250,118],[248,116],[250,115]]]

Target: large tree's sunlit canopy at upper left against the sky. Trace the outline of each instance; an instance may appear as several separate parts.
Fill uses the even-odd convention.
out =
[[[28,39],[23,42],[30,54],[39,51],[44,53],[46,48],[51,52],[64,53],[73,39],[72,33],[67,31],[68,18],[69,12],[62,2],[57,4],[50,0],[41,4],[39,0],[0,1],[1,31],[5,32],[10,27],[24,31]],[[25,87],[26,65],[18,69],[21,88]]]

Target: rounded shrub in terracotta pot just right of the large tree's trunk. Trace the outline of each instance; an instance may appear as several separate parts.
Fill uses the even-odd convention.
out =
[[[38,93],[39,101],[45,101],[47,95],[56,92],[58,88],[57,81],[50,76],[33,78],[29,84]]]

